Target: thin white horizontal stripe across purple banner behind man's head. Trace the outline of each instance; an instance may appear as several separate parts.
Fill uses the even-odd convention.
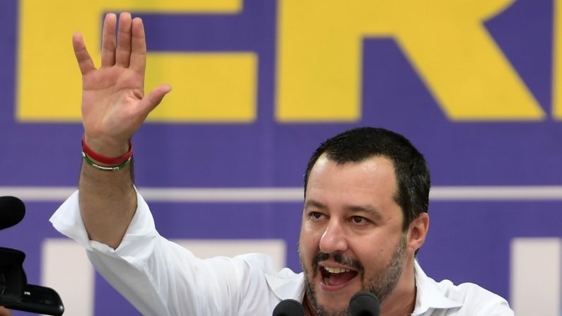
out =
[[[0,187],[0,196],[23,201],[64,201],[76,187]],[[301,187],[140,188],[147,201],[163,202],[299,202]],[[432,201],[562,200],[562,186],[433,187]]]

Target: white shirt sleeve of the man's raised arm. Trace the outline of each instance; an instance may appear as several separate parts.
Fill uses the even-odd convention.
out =
[[[160,236],[138,192],[137,199],[134,218],[115,250],[89,240],[78,191],[50,221],[86,248],[95,269],[143,315],[241,315],[247,288],[267,288],[263,277],[263,270],[271,269],[267,259],[255,255],[199,259]]]

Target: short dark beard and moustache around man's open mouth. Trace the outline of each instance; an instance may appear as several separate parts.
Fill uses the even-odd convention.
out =
[[[361,276],[362,279],[361,280],[361,284],[363,288],[362,291],[369,291],[370,293],[375,294],[379,299],[380,303],[382,303],[383,300],[385,300],[385,298],[387,298],[387,296],[390,294],[390,292],[394,290],[394,288],[398,283],[398,280],[400,279],[400,276],[402,275],[402,261],[404,259],[405,252],[406,252],[406,234],[402,233],[402,236],[400,238],[400,241],[398,242],[396,250],[394,251],[394,254],[392,254],[392,257],[390,258],[390,262],[387,264],[387,266],[384,269],[380,271],[379,274],[375,275],[372,279],[368,280],[368,282],[366,283],[363,281],[365,270],[363,269],[361,263],[346,258],[341,254],[339,254],[339,257],[341,259],[335,259],[335,260],[336,262],[340,262],[340,263],[346,262],[347,264],[358,268],[359,275]],[[318,262],[327,259],[327,257],[329,257],[329,254],[325,254],[325,253],[317,254],[317,256],[314,258],[312,262],[312,269],[314,269],[314,271],[317,271]],[[308,296],[308,298],[310,299],[310,303],[312,303],[312,306],[315,308],[318,315],[348,316],[349,310],[347,307],[343,310],[336,310],[330,313],[322,309],[322,306],[320,306],[316,298],[315,288],[312,286],[312,283],[310,282],[310,278],[309,278],[310,272],[306,269],[305,265],[303,264],[302,258],[300,259],[300,266],[303,267],[303,271],[305,274],[305,289],[306,289],[305,299],[306,296]]]

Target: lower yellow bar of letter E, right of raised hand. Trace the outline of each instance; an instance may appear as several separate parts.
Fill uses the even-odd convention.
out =
[[[153,110],[150,116],[153,121],[249,122],[255,119],[257,56],[254,54],[152,53],[147,59],[146,86],[170,82],[172,77],[177,82],[172,87],[178,87],[166,95],[163,106]]]

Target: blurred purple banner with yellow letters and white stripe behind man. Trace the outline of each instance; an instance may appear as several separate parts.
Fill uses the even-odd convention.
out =
[[[0,1],[0,195],[28,209],[0,245],[26,252],[29,282],[57,290],[65,314],[139,315],[48,222],[81,165],[71,37],[99,64],[103,16],[131,11],[146,27],[146,90],[174,88],[134,136],[136,185],[162,235],[203,257],[267,252],[300,271],[308,157],[345,129],[385,127],[432,171],[428,275],[479,283],[517,315],[561,315],[561,7]]]

